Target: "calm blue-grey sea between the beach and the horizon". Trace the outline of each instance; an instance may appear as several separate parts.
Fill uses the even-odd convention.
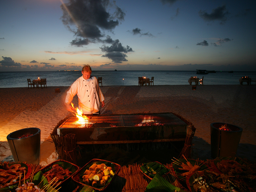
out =
[[[28,71],[28,72],[0,72],[0,88],[28,87],[27,79],[46,78],[49,86],[71,86],[81,71]],[[154,85],[189,85],[191,76],[202,78],[204,85],[238,85],[239,78],[248,76],[256,79],[256,71],[216,71],[204,75],[196,71],[92,71],[92,76],[102,77],[103,86],[129,86],[138,85],[138,77],[154,77]]]

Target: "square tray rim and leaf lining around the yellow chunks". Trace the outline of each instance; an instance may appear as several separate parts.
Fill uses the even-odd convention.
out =
[[[106,167],[111,167],[114,175],[112,177],[110,177],[110,179],[107,180],[107,182],[105,183],[104,186],[92,186],[91,184],[88,184],[86,182],[83,181],[83,176],[84,176],[84,173],[85,171],[89,170],[89,168],[93,165],[93,164],[96,164],[96,165],[101,165],[101,164],[105,164]],[[106,160],[101,160],[101,159],[92,159],[90,160],[86,165],[84,165],[80,170],[78,170],[76,172],[76,174],[74,174],[71,178],[72,180],[77,183],[78,185],[80,186],[89,186],[95,190],[99,190],[99,191],[102,191],[102,190],[105,190],[109,184],[111,182],[113,182],[114,178],[117,176],[117,174],[119,173],[120,171],[120,168],[121,168],[121,165],[119,164],[116,164],[116,163],[113,163],[113,162],[110,162],[110,161],[106,161]]]

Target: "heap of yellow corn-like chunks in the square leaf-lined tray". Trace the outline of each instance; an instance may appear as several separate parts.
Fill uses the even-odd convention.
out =
[[[83,182],[93,187],[105,186],[107,181],[115,175],[112,167],[109,167],[104,163],[92,164],[83,174]]]

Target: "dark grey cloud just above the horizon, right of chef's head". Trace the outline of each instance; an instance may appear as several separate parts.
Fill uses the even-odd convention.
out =
[[[125,57],[127,55],[125,53],[134,52],[131,47],[128,45],[124,47],[119,39],[113,41],[111,46],[102,45],[101,51],[106,54],[101,57],[107,57],[111,59],[114,63],[122,63],[123,61],[128,61]]]

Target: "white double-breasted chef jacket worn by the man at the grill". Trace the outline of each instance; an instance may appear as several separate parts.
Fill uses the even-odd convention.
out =
[[[104,101],[104,96],[96,77],[91,76],[88,80],[85,80],[83,76],[79,77],[67,92],[65,104],[70,104],[76,94],[78,109],[82,110],[83,114],[100,111],[100,102]]]

